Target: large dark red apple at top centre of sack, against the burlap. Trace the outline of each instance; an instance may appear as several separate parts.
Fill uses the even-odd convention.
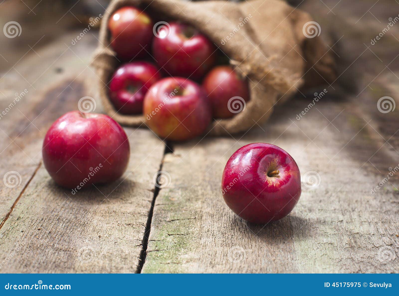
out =
[[[199,79],[215,64],[216,47],[197,29],[172,22],[152,41],[154,59],[171,75]]]

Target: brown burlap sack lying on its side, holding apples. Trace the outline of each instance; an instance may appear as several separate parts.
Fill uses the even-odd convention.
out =
[[[125,5],[140,7],[154,22],[181,20],[195,26],[229,56],[238,73],[247,75],[251,99],[245,109],[231,119],[214,120],[209,134],[233,134],[262,124],[277,103],[303,85],[335,79],[334,61],[317,36],[320,29],[305,26],[310,16],[283,1],[114,0],[103,16],[93,65],[105,111],[122,125],[145,126],[144,116],[119,114],[109,101],[107,83],[119,62],[109,44],[107,23]]]

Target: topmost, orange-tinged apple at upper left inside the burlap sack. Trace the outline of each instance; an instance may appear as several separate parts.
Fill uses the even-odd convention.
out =
[[[108,22],[111,46],[124,60],[148,55],[152,32],[152,20],[142,10],[124,6],[113,13]],[[144,48],[143,48],[144,47]]]

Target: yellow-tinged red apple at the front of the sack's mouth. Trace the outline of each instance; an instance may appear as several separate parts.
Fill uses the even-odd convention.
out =
[[[146,124],[161,138],[188,140],[201,135],[212,120],[201,86],[182,77],[156,82],[144,98]]]

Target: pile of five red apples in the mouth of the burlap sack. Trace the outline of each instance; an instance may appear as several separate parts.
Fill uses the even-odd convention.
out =
[[[161,138],[199,136],[212,118],[236,114],[231,98],[249,100],[247,79],[229,65],[216,66],[221,52],[196,28],[180,22],[154,26],[145,12],[125,6],[112,14],[108,29],[123,62],[109,83],[111,102],[121,114],[143,114]]]

